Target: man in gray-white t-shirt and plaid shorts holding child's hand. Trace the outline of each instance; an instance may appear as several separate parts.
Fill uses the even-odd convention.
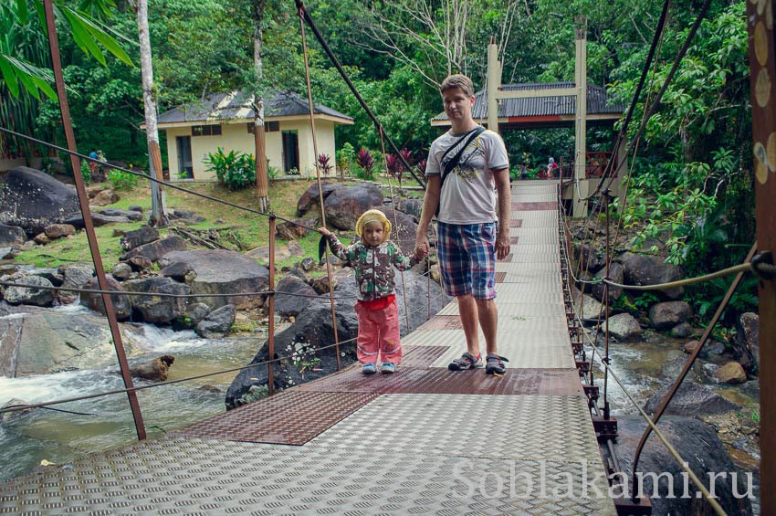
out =
[[[439,90],[452,127],[431,144],[428,153],[415,252],[425,256],[426,232],[438,206],[437,250],[442,284],[446,294],[458,300],[467,338],[467,353],[448,368],[461,371],[482,365],[477,332],[477,326],[481,326],[488,352],[485,371],[500,375],[507,371],[507,359],[498,355],[494,299],[496,257],[506,258],[509,254],[509,157],[496,132],[473,132],[482,128],[472,119],[471,79],[451,75]]]

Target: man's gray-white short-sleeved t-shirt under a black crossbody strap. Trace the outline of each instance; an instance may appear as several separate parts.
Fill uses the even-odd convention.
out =
[[[442,155],[461,138],[448,131],[432,144],[425,165],[425,175],[442,174],[447,162],[459,150]],[[464,138],[467,138],[466,136]],[[439,198],[437,219],[446,224],[482,224],[496,222],[496,181],[493,171],[509,168],[504,141],[492,131],[481,132],[469,142],[456,167],[446,175]]]

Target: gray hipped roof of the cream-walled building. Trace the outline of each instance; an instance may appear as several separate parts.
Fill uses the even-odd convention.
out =
[[[201,102],[192,102],[165,111],[159,115],[158,123],[180,123],[184,121],[226,121],[226,120],[253,120],[253,94],[242,91],[230,91],[228,93],[214,93]],[[316,114],[330,115],[341,118],[344,121],[352,121],[348,115],[340,111],[332,110],[327,106],[315,104]],[[288,117],[309,116],[308,101],[290,91],[269,93],[264,99],[264,116]]]

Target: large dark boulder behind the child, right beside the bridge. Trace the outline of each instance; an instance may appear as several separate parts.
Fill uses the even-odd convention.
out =
[[[343,269],[346,270],[346,269]],[[341,271],[342,272],[342,271]],[[344,278],[339,282],[339,287],[334,291],[335,310],[337,312],[337,332],[340,341],[346,341],[354,338],[358,334],[358,319],[353,308],[353,300],[356,298],[355,280],[352,278],[352,271],[347,269],[350,277]],[[407,311],[410,313],[409,328],[414,330],[426,321],[426,302],[428,299],[427,286],[428,281],[425,276],[420,276],[413,270],[404,272],[404,281],[406,281],[406,300],[408,303]],[[407,325],[404,321],[404,296],[402,276],[396,273],[396,300],[398,304],[399,320],[401,334],[407,332]],[[431,284],[431,313],[437,311],[450,302],[442,288],[436,283]],[[299,313],[293,324],[286,330],[278,333],[275,339],[276,353],[281,356],[289,356],[296,353],[297,361],[304,361],[311,357],[320,358],[318,368],[320,371],[306,370],[301,373],[299,365],[294,365],[293,360],[283,360],[275,368],[275,385],[278,388],[285,388],[290,385],[307,382],[319,378],[325,374],[330,374],[337,369],[337,357],[334,348],[330,347],[317,351],[320,347],[329,346],[334,342],[333,324],[331,322],[331,306],[329,294],[321,295],[318,299],[312,300],[304,311]],[[341,344],[341,363],[347,365],[355,361],[355,348],[352,342]],[[251,363],[258,363],[267,360],[266,345],[261,348]],[[226,392],[226,406],[234,408],[244,405],[252,398],[251,392],[261,392],[267,390],[267,366],[259,366],[256,369],[245,369],[237,374],[234,382],[229,386]]]

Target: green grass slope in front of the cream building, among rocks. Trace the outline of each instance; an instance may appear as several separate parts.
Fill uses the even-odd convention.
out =
[[[273,181],[269,184],[270,210],[278,216],[286,218],[295,218],[297,203],[299,197],[313,184],[314,180],[299,181]],[[251,208],[257,208],[256,189],[250,188],[237,192],[231,192],[224,186],[215,183],[181,183],[184,188],[194,192],[211,195],[237,205],[244,205]],[[394,184],[394,194],[396,186]],[[127,209],[131,205],[140,205],[143,213],[147,216],[151,211],[151,189],[148,185],[137,186],[131,191],[120,191],[120,200],[110,205],[110,207]],[[422,193],[421,193],[422,194]],[[183,226],[193,230],[219,230],[219,234],[225,236],[229,234],[232,246],[235,250],[248,250],[255,247],[266,246],[269,241],[269,223],[266,216],[259,216],[246,211],[234,208],[232,206],[222,205],[190,195],[185,192],[165,189],[166,204],[168,209],[191,210],[199,216],[204,216],[204,222],[191,226]],[[383,195],[390,195],[383,191]],[[106,206],[108,207],[108,206]],[[216,221],[218,223],[216,224]],[[281,222],[281,221],[278,221]],[[173,223],[181,224],[173,221]],[[123,249],[121,248],[121,236],[114,236],[114,229],[131,231],[143,226],[144,222],[132,222],[128,224],[110,224],[107,226],[96,227],[98,243],[100,246],[100,255],[106,270],[110,271],[118,263]],[[170,229],[162,229],[160,233],[165,236],[171,233]],[[309,233],[298,240],[299,246],[305,251],[304,256],[318,259],[318,233]],[[240,248],[236,242],[239,242]],[[224,242],[226,243],[226,242]],[[285,242],[278,239],[278,245]],[[191,242],[188,242],[190,248],[196,248]],[[278,260],[278,269],[283,266],[290,266],[298,262],[300,257],[291,257],[286,260]],[[261,262],[261,260],[258,260]],[[32,264],[37,267],[58,267],[62,264],[84,263],[91,265],[91,255],[89,254],[89,243],[86,232],[79,231],[73,237],[60,238],[48,243],[46,246],[36,246],[26,250],[16,258],[16,263]],[[266,265],[266,264],[265,264]]]

